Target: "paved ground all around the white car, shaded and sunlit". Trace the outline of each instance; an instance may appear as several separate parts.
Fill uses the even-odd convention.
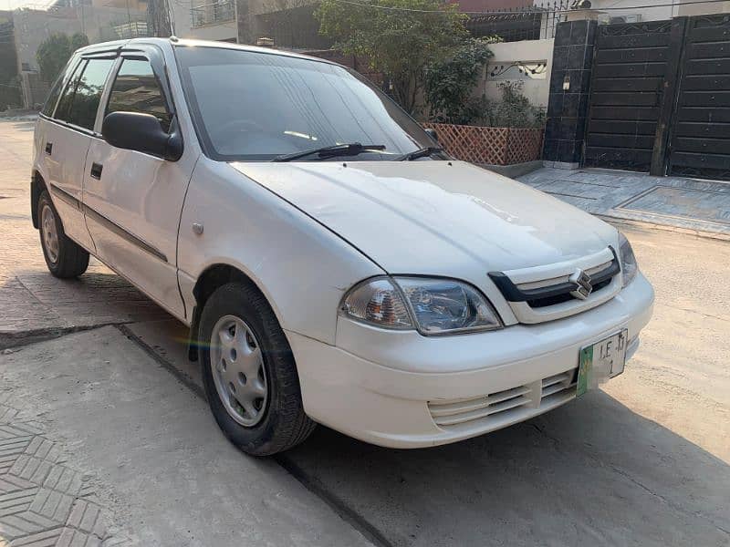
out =
[[[657,304],[601,391],[436,449],[318,428],[251,459],[215,428],[183,325],[99,263],[46,273],[29,131],[0,122],[0,334],[57,337],[0,356],[0,546],[730,543],[728,243],[627,229]]]

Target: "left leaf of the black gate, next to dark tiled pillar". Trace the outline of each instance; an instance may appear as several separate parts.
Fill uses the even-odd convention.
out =
[[[650,170],[671,31],[672,21],[598,27],[585,165]]]

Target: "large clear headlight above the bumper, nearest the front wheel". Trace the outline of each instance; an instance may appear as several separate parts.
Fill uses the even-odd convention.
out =
[[[453,279],[377,277],[355,285],[341,313],[384,328],[447,335],[501,328],[496,312],[470,284]]]

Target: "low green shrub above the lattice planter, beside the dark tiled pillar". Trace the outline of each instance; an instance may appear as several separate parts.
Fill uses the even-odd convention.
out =
[[[544,108],[530,104],[522,94],[522,82],[506,81],[499,85],[502,100],[479,99],[474,109],[481,114],[472,120],[472,125],[493,128],[542,128],[545,126]]]

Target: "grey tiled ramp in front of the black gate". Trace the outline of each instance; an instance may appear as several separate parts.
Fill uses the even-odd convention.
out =
[[[518,180],[594,214],[730,236],[730,182],[550,168]]]

